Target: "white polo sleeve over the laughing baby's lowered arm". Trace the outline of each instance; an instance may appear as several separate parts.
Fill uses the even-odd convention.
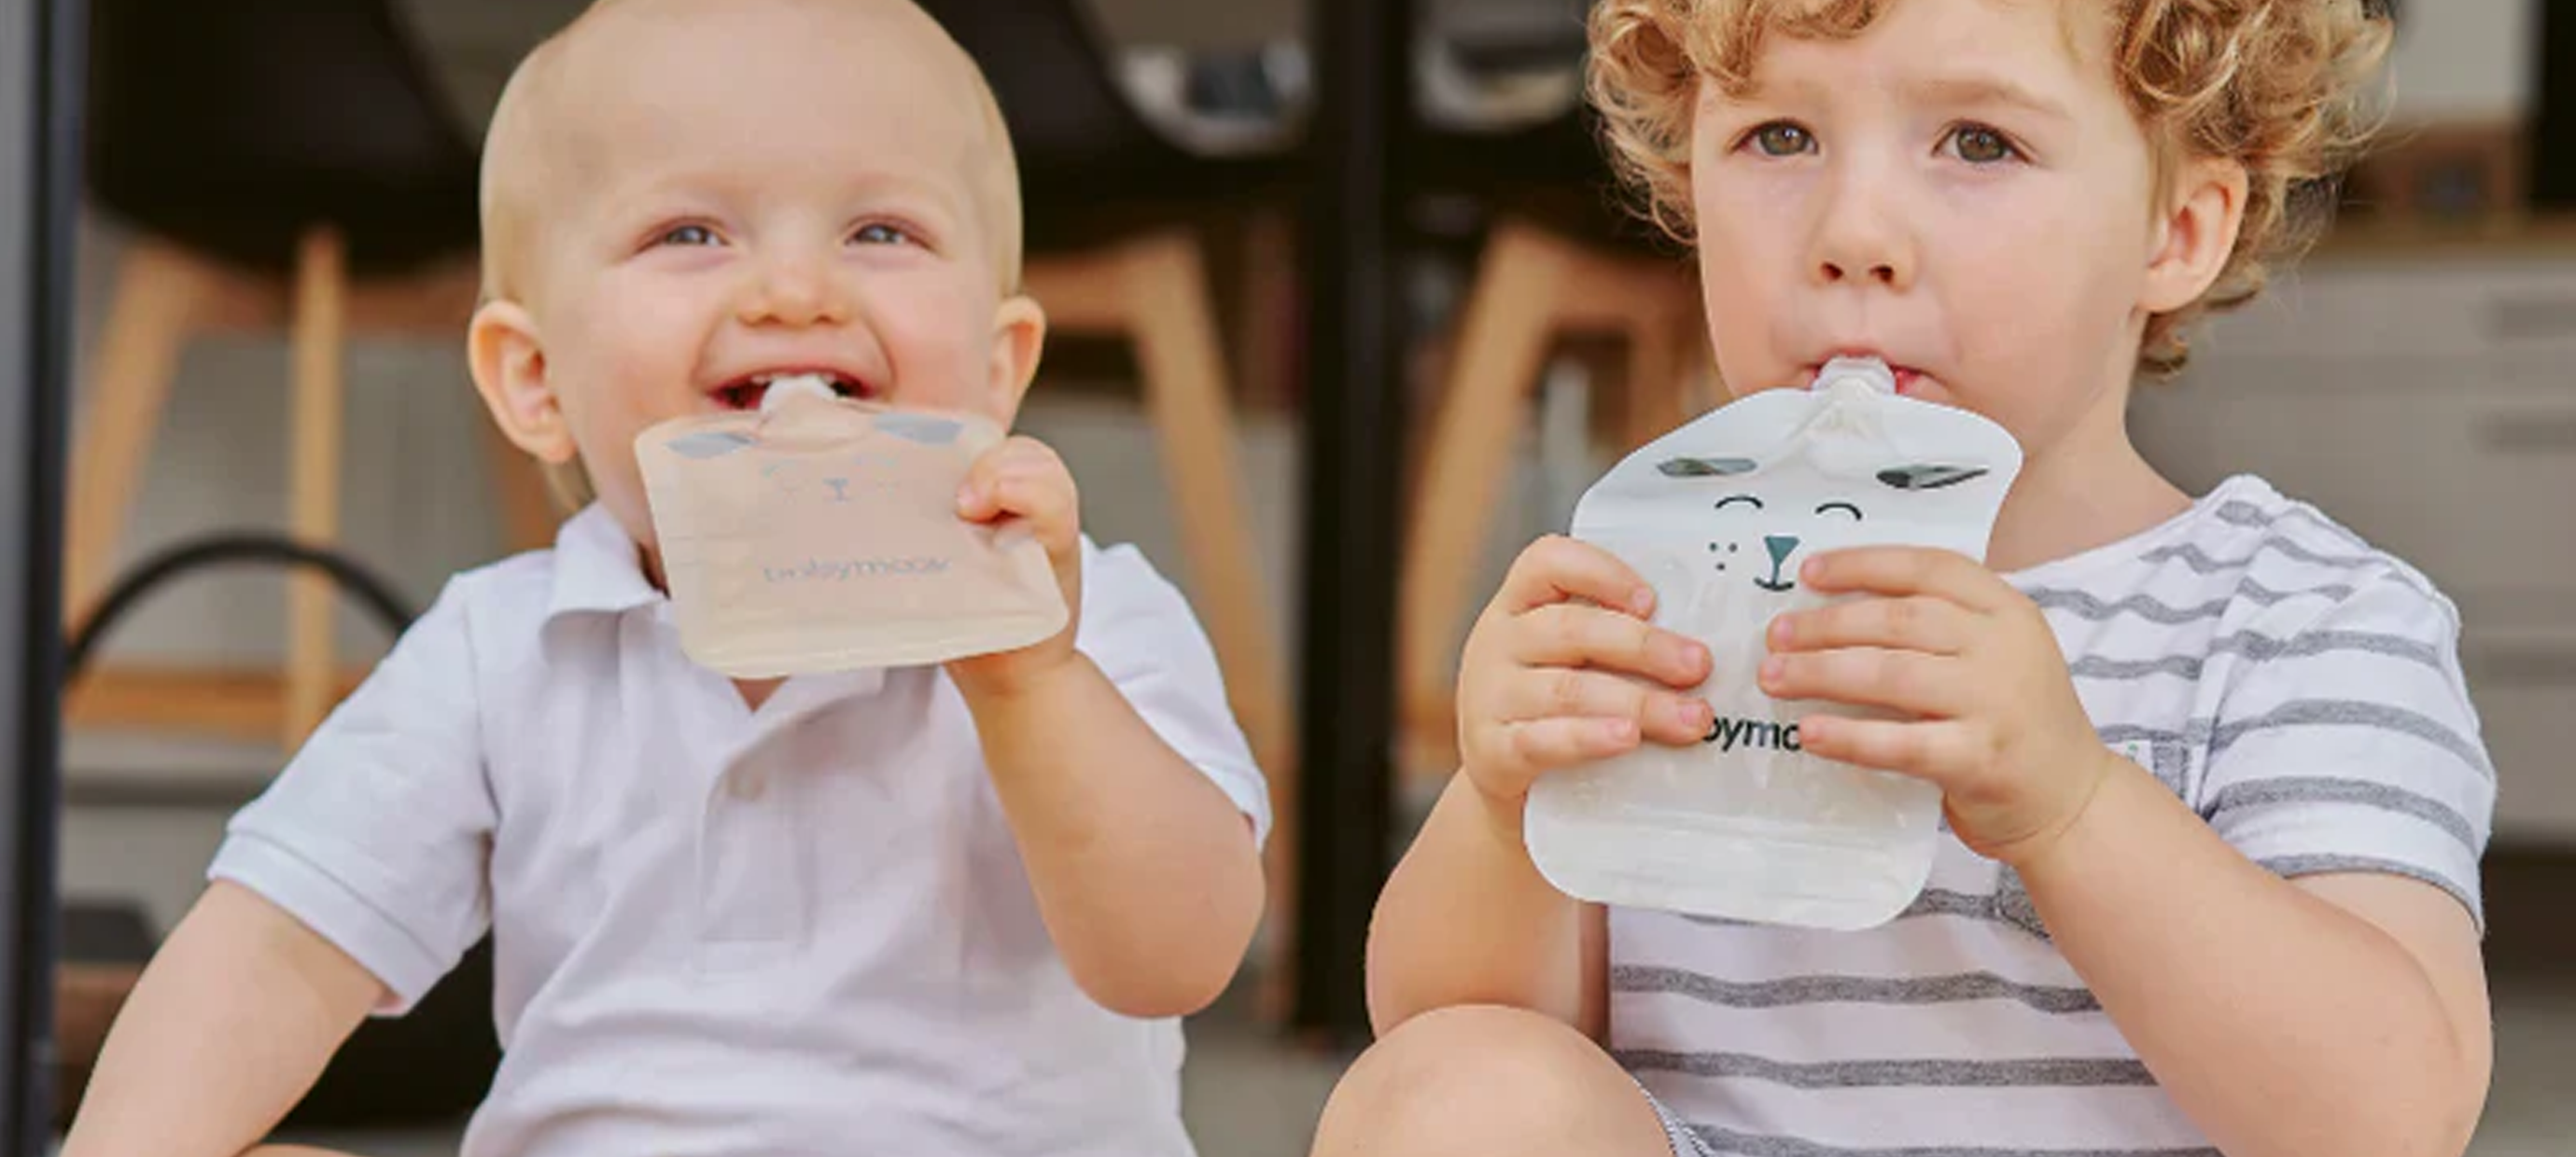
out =
[[[466,585],[451,582],[260,799],[209,879],[350,953],[410,1010],[489,928],[495,827]]]

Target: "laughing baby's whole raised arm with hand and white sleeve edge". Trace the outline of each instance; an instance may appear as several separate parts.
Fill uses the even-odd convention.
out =
[[[1244,783],[1255,799],[1236,801],[1211,778],[1224,773],[1216,763],[1236,765],[1236,781],[1260,773],[1224,709],[1206,636],[1159,580],[1131,582],[1151,585],[1151,598],[1084,590],[1074,477],[1033,438],[1010,438],[976,461],[958,515],[1025,528],[1046,546],[1074,611],[1054,639],[948,665],[974,711],[1046,933],[1103,1008],[1133,1018],[1195,1013],[1234,979],[1262,917],[1257,827],[1244,822],[1257,786]],[[1151,688],[1159,719],[1195,732],[1193,755],[1231,752],[1206,758],[1203,770],[1121,685]],[[1229,742],[1211,742],[1216,732]]]

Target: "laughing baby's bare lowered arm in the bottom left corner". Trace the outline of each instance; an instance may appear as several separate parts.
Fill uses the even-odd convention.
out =
[[[234,1157],[312,1090],[384,984],[268,899],[216,881],[108,1033],[64,1157]]]

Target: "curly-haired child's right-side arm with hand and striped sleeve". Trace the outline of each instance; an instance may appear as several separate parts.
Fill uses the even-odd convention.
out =
[[[2048,618],[1994,572],[1855,549],[1801,580],[1862,598],[1780,616],[1762,688],[1896,711],[1808,716],[1806,750],[1940,783],[2221,1152],[2460,1154],[2488,1077],[2470,902],[2494,768],[2447,606],[2403,575],[2269,603],[2236,626],[2269,647],[2192,724],[2200,758],[2166,740],[2197,763],[2166,786],[2102,745]]]

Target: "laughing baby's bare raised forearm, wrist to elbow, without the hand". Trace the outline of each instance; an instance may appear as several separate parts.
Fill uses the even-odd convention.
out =
[[[1262,915],[1260,853],[1234,801],[1090,657],[969,703],[1038,915],[1082,992],[1136,1018],[1213,1002]]]

